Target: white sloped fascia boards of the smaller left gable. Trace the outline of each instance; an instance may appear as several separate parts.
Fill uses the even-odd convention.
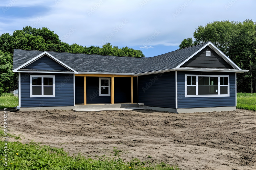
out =
[[[21,66],[19,66],[18,68],[14,69],[13,72],[22,72],[22,71],[18,71],[21,68],[24,68],[26,66],[28,66],[29,64],[31,64],[32,62],[38,60],[39,58],[41,58],[42,56],[47,55],[48,57],[52,58],[54,61],[58,62],[59,64],[61,64],[63,67],[66,67],[70,70],[72,70],[74,73],[77,73],[76,70],[72,69],[71,67],[69,67],[67,64],[63,63],[62,61],[58,60],[57,58],[55,58],[54,56],[52,56],[50,53],[48,53],[47,51],[42,52],[41,54],[37,55],[36,57],[30,59],[29,61],[25,62],[24,64],[22,64]]]

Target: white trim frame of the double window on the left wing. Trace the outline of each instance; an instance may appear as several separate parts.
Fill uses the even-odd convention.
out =
[[[42,95],[32,95],[32,77],[42,77]],[[44,94],[44,77],[52,77],[52,95],[43,95]],[[30,97],[55,97],[55,76],[54,75],[30,75],[29,89]]]

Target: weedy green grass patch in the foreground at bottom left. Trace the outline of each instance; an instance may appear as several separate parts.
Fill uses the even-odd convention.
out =
[[[4,142],[0,143],[0,157],[4,156]],[[5,151],[6,152],[6,151]],[[165,163],[148,164],[134,158],[128,163],[124,163],[121,158],[100,158],[99,160],[86,159],[81,155],[68,156],[63,148],[51,148],[49,146],[40,146],[38,143],[30,142],[22,144],[21,142],[8,142],[8,166],[4,166],[4,160],[0,160],[0,169],[62,169],[62,170],[179,170],[176,166],[169,166]]]

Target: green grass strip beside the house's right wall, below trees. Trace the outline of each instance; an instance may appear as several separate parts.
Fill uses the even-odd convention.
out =
[[[256,111],[256,94],[237,93],[237,109]]]

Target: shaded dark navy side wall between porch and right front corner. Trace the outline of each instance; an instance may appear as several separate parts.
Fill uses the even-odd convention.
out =
[[[138,98],[146,106],[175,108],[175,72],[138,76]]]

